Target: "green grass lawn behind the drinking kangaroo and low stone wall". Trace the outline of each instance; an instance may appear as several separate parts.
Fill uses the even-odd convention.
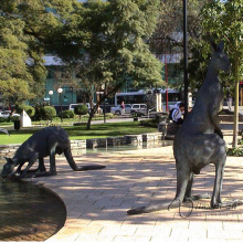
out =
[[[107,123],[92,125],[91,130],[86,129],[86,125],[81,126],[63,126],[63,128],[70,135],[70,139],[88,139],[88,138],[105,138],[116,137],[131,134],[146,134],[156,133],[157,128],[140,126],[139,122],[126,122],[126,123]],[[18,131],[10,130],[8,136],[3,133],[0,134],[0,145],[7,144],[22,144],[32,134],[41,128],[20,129]]]

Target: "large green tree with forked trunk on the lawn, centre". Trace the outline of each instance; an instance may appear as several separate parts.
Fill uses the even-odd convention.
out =
[[[65,36],[70,43],[75,42],[80,55],[62,55],[62,59],[72,66],[76,87],[83,87],[88,94],[92,107],[88,129],[99,104],[114,96],[128,81],[142,87],[161,85],[161,63],[146,42],[155,30],[159,2],[87,1],[85,8],[76,9],[66,24]],[[93,107],[94,94],[102,87],[104,95]]]

